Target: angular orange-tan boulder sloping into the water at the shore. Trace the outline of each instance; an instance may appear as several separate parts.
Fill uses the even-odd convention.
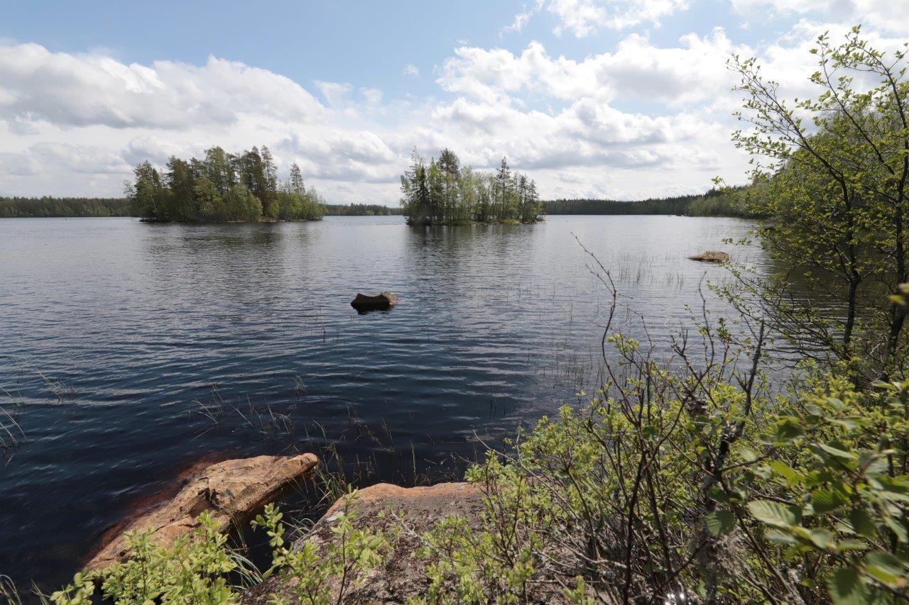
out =
[[[187,477],[172,500],[128,523],[85,569],[103,570],[124,560],[127,531],[152,528],[152,540],[167,546],[179,536],[193,531],[198,526],[196,519],[203,511],[213,511],[218,530],[226,531],[233,521],[245,521],[293,481],[305,478],[314,471],[316,464],[318,458],[306,453],[256,456],[206,466]]]

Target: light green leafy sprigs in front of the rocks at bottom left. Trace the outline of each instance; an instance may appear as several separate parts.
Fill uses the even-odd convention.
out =
[[[125,562],[101,572],[78,573],[73,582],[51,595],[56,605],[89,605],[100,584],[105,600],[116,603],[200,603],[229,605],[240,600],[242,586],[230,583],[240,576],[257,582],[280,573],[287,580],[294,602],[323,604],[340,602],[361,575],[382,563],[388,541],[382,533],[357,530],[355,493],[347,499],[332,526],[335,542],[324,550],[306,541],[299,550],[285,543],[282,513],[275,505],[265,507],[253,521],[264,528],[274,550],[272,567],[259,574],[252,564],[227,546],[227,536],[218,532],[210,511],[197,518],[198,527],[189,535],[162,547],[151,540],[151,531],[127,534]],[[272,602],[284,602],[272,596]]]

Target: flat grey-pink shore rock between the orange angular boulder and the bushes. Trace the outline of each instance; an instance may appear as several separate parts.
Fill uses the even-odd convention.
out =
[[[313,530],[296,542],[295,547],[300,548],[308,541],[323,549],[335,541],[332,528],[341,517],[344,506],[344,498],[336,501]],[[344,602],[405,603],[411,597],[422,595],[429,580],[426,578],[427,560],[416,556],[416,550],[422,545],[420,534],[430,531],[439,521],[454,514],[463,516],[478,530],[483,510],[483,491],[470,483],[440,483],[415,488],[379,483],[359,491],[355,504],[355,526],[395,533],[398,537],[385,564],[371,571],[354,590],[346,593]],[[273,576],[247,590],[243,602],[265,605],[270,594],[287,596],[287,581],[281,575]]]

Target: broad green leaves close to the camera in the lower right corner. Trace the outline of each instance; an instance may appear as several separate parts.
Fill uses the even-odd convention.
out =
[[[744,467],[728,504],[747,501],[784,560],[824,561],[804,584],[834,602],[909,599],[909,381],[826,382],[774,414],[761,439],[774,460]]]

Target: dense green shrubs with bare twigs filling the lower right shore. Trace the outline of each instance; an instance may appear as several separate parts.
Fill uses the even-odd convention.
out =
[[[467,472],[480,527],[425,536],[427,602],[909,599],[909,381],[768,399],[613,340],[635,370],[612,395]]]

